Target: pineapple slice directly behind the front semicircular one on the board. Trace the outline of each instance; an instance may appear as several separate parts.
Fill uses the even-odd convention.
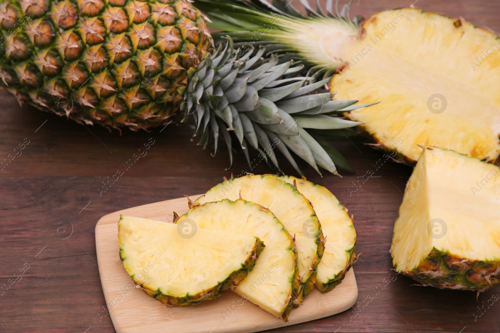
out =
[[[288,320],[300,282],[295,245],[268,209],[245,200],[224,199],[194,207],[175,223],[262,240],[265,249],[253,270],[233,292],[277,318]]]

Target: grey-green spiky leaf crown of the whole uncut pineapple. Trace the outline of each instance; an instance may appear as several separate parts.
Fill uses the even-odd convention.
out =
[[[184,93],[182,121],[192,114],[193,137],[200,137],[198,145],[206,147],[212,136],[214,156],[221,136],[227,145],[230,167],[236,148],[243,151],[250,169],[253,168],[250,145],[277,172],[281,170],[275,147],[301,175],[290,151],[318,173],[320,166],[338,175],[335,164],[353,171],[328,140],[357,134],[347,128],[360,123],[331,115],[371,104],[333,101],[334,94],[330,92],[311,93],[331,78],[316,81],[313,77],[296,76],[304,65],[276,56],[272,50],[267,51],[268,46],[234,44],[227,37],[192,73]]]

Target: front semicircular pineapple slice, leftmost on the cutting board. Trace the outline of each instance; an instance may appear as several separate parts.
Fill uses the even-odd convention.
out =
[[[252,236],[196,229],[120,216],[118,243],[123,267],[135,284],[169,305],[211,300],[252,270],[262,242]]]

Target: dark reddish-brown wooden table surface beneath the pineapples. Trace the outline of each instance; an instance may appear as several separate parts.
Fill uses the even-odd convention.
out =
[[[362,0],[351,13],[368,17],[411,2]],[[500,32],[498,1],[415,2],[422,9],[462,16]],[[161,132],[124,131],[120,136],[21,107],[5,91],[0,99],[0,160],[29,140],[22,154],[0,171],[0,286],[15,281],[0,295],[0,332],[114,332],[96,263],[97,220],[123,208],[202,193],[222,176],[249,171],[244,157],[236,156],[233,169],[225,171],[227,152],[222,149],[211,157],[190,142],[187,126],[170,124]],[[149,138],[154,144],[147,155],[99,194],[106,177],[123,169],[122,163]],[[500,305],[486,306],[498,298],[498,288],[476,301],[473,292],[411,286],[412,280],[393,274],[388,253],[392,227],[411,169],[390,161],[376,169],[382,153],[361,140],[336,147],[356,174],[321,178],[311,168],[303,169],[309,180],[326,186],[354,215],[356,252],[363,253],[353,267],[359,302],[336,316],[272,332],[498,332]],[[289,167],[283,169],[294,174]],[[370,169],[374,175],[349,193],[356,177]],[[257,165],[255,173],[266,172],[264,163]],[[146,314],[138,311],[137,316]]]

